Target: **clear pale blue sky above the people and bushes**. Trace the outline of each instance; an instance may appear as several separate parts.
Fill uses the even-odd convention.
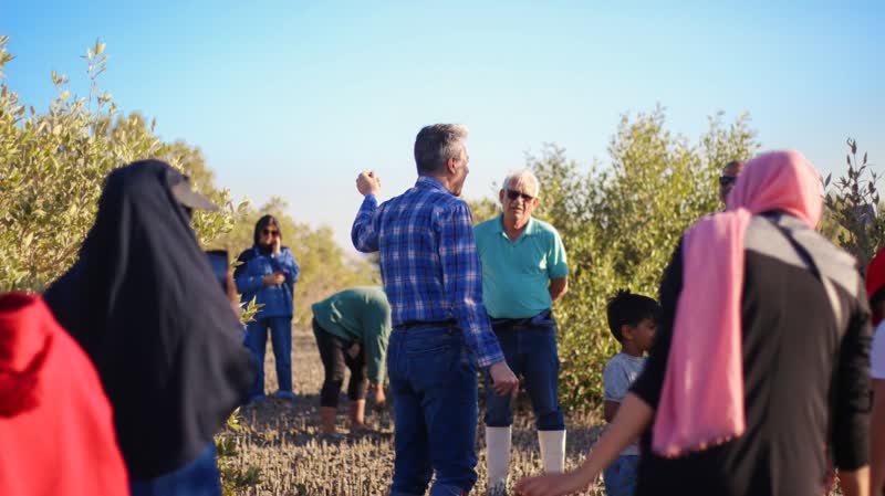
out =
[[[657,103],[693,139],[747,110],[763,148],[826,172],[853,136],[885,166],[884,3],[791,3],[0,0],[0,34],[9,85],[43,108],[52,70],[85,92],[79,55],[101,38],[123,112],[199,146],[235,198],[279,194],[348,247],[356,173],[399,193],[436,122],[470,128],[471,198],[545,141],[604,163],[620,116]]]

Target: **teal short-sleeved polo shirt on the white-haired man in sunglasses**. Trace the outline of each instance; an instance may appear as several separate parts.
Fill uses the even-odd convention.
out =
[[[473,228],[482,264],[482,300],[493,318],[533,317],[550,308],[550,279],[569,275],[560,233],[529,219],[525,231],[510,241],[503,215]]]

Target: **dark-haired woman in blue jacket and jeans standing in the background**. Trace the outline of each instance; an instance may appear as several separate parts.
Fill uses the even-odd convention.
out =
[[[293,400],[292,392],[292,291],[301,270],[292,251],[282,246],[283,233],[273,215],[258,220],[254,244],[237,258],[233,278],[242,303],[252,298],[263,305],[254,320],[247,324],[246,346],[258,361],[258,377],[249,392],[249,402],[264,399],[264,347],[270,329],[277,361],[277,398]]]

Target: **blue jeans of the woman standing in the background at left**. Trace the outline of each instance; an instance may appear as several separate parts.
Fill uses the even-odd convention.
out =
[[[249,397],[264,394],[264,347],[268,342],[268,328],[277,360],[277,382],[280,391],[292,391],[292,317],[264,317],[246,325],[246,346],[258,361],[258,376]]]

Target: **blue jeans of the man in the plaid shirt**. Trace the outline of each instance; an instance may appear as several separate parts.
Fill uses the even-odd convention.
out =
[[[477,482],[476,357],[458,327],[394,330],[387,348],[396,434],[391,496],[467,494]]]

